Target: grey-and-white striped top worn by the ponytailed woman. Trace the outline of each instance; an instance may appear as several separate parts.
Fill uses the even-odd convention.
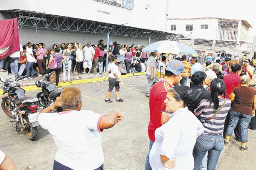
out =
[[[219,108],[224,103],[224,98],[219,98]],[[206,122],[204,124],[204,134],[222,134],[224,129],[224,123],[227,116],[227,113],[230,111],[231,101],[230,99],[226,99],[226,103],[221,108],[219,113],[210,121],[206,122],[210,119],[217,111],[214,110],[213,103],[210,105],[209,100],[204,99],[198,105],[198,108],[195,110],[195,115],[200,115],[200,121]]]

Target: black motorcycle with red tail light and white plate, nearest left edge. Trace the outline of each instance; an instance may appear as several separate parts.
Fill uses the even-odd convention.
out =
[[[0,81],[4,83],[3,94],[8,93],[2,98],[1,106],[7,116],[15,119],[10,122],[13,123],[12,126],[15,127],[16,132],[23,133],[25,131],[30,140],[35,140],[39,125],[37,122],[38,99],[25,96],[26,91],[17,83],[24,77],[26,76],[17,77],[15,81],[0,78]]]

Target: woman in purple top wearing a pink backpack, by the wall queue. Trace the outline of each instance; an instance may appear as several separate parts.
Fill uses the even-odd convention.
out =
[[[49,65],[51,64],[52,62],[52,59],[55,58],[57,60],[57,68],[55,69],[51,69],[51,68],[48,68],[45,73],[50,73],[52,71],[55,71],[55,74],[56,74],[56,86],[58,86],[58,82],[59,82],[59,79],[60,79],[60,73],[61,73],[61,66],[62,66],[62,62],[64,62],[66,60],[66,57],[65,56],[62,56],[62,54],[60,54],[60,48],[56,47],[55,48],[55,53],[53,53],[53,51],[51,51],[51,58],[49,60]],[[49,78],[47,79],[47,81],[49,82]]]

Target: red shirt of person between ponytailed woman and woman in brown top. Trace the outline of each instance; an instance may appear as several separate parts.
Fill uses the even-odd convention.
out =
[[[241,77],[236,73],[230,72],[230,74],[224,76],[223,81],[226,84],[225,98],[229,99],[229,96],[233,92],[234,88],[241,85]]]

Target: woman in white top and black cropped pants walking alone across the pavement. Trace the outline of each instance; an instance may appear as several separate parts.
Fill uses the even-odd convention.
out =
[[[119,71],[119,68],[116,65],[116,62],[118,61],[118,56],[113,55],[110,61],[111,63],[108,66],[108,71],[106,72],[105,76],[102,79],[104,80],[107,77],[109,71],[111,71],[108,77],[109,87],[108,87],[105,102],[112,103],[112,101],[109,99],[109,96],[114,87],[116,88],[116,102],[123,102],[124,100],[119,97],[119,90],[120,90],[119,83],[122,83],[122,82],[121,82],[121,72]]]

